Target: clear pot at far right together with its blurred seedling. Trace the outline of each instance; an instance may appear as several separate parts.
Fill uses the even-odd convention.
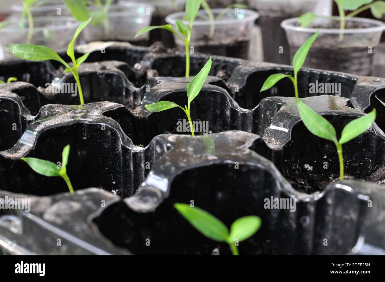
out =
[[[305,13],[300,18],[291,18],[281,23],[285,29],[290,53],[308,38],[310,33],[320,30],[319,40],[309,52],[305,67],[370,75],[373,54],[380,42],[383,22],[354,17],[370,8],[376,18],[385,13],[385,2],[373,0],[334,0],[340,17]],[[368,4],[368,5],[365,5]],[[361,7],[362,6],[362,7]],[[353,10],[345,15],[346,10]]]

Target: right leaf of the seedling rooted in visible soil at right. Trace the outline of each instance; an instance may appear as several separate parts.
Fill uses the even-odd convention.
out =
[[[376,109],[373,109],[373,111],[367,115],[352,120],[343,128],[341,139],[338,141],[338,143],[345,144],[357,136],[360,136],[372,126],[375,119]]]

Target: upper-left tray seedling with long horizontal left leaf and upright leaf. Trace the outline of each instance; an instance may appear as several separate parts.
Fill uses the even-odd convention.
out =
[[[66,63],[62,58],[60,58],[60,56],[54,50],[43,45],[7,44],[7,47],[9,49],[9,52],[11,52],[13,55],[25,60],[29,60],[29,61],[55,60],[62,63],[66,67],[63,73],[71,72],[72,75],[74,75],[74,78],[77,84],[77,89],[79,92],[80,104],[83,105],[84,99],[83,99],[82,87],[80,85],[78,68],[80,64],[87,59],[90,53],[86,53],[75,60],[74,43],[76,38],[79,36],[80,32],[82,32],[82,30],[89,24],[91,19],[92,18],[89,18],[88,20],[80,23],[79,27],[75,32],[74,38],[68,45],[67,55],[69,55],[69,57],[72,60],[72,64],[73,64],[72,67],[70,67],[69,64]]]

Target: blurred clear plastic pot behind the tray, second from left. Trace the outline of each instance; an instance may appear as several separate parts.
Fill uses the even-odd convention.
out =
[[[90,7],[90,12],[97,10]],[[135,38],[138,30],[148,27],[154,7],[144,3],[125,3],[111,5],[108,19],[96,22],[94,19],[84,28],[85,42],[92,41],[122,41],[134,45],[147,45],[148,33]]]

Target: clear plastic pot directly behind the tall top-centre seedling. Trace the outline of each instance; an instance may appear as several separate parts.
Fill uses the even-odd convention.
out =
[[[212,9],[216,18],[224,9]],[[231,9],[222,18],[214,22],[208,20],[204,10],[199,10],[192,27],[190,53],[208,53],[211,55],[248,59],[251,30],[258,13],[246,9]],[[177,30],[175,21],[183,20],[184,12],[172,13],[166,17],[166,22]],[[174,35],[178,50],[184,52],[184,43]]]

